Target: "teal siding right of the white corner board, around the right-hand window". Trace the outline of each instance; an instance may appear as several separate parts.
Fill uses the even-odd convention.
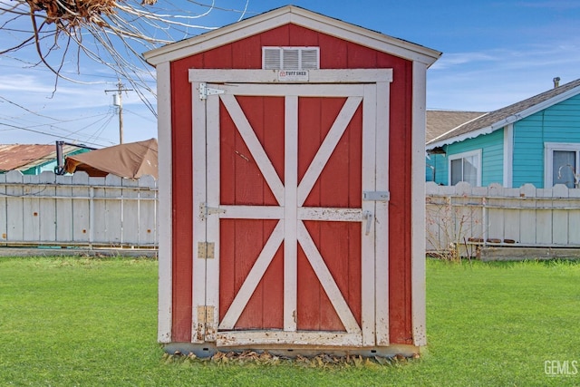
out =
[[[580,95],[514,123],[513,187],[531,183],[545,188],[546,142],[580,147]]]

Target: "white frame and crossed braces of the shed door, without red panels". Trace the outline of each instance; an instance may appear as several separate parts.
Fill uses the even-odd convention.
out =
[[[389,344],[388,315],[388,170],[389,84],[384,70],[316,70],[308,82],[278,82],[266,70],[190,70],[193,97],[194,253],[192,343],[316,344],[382,346]],[[237,96],[284,98],[284,177],[256,137]],[[299,99],[343,97],[345,102],[302,179],[298,176]],[[220,203],[220,104],[225,108],[266,180],[276,206]],[[305,207],[336,144],[362,107],[362,203],[353,208]],[[223,110],[222,110],[223,111]],[[283,181],[284,182],[283,182]],[[197,212],[197,213],[196,213]],[[220,219],[273,219],[277,223],[228,306],[219,312]],[[361,222],[361,322],[352,310],[304,221]],[[223,242],[222,243],[227,243]],[[343,332],[300,331],[296,326],[298,245],[343,324]],[[237,329],[256,285],[279,247],[284,251],[284,326],[279,330]],[[213,258],[208,258],[213,250]]]

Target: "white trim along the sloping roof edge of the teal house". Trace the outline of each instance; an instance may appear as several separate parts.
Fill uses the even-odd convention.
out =
[[[531,106],[531,107],[527,108],[526,110],[520,111],[516,114],[512,114],[509,117],[507,117],[503,120],[500,120],[498,122],[495,122],[495,123],[493,123],[485,128],[478,129],[477,131],[469,131],[469,133],[464,133],[464,134],[461,134],[459,136],[451,137],[447,140],[440,140],[437,142],[431,142],[428,146],[425,147],[425,149],[432,150],[434,148],[442,147],[443,145],[452,144],[453,142],[460,142],[463,140],[473,139],[473,138],[478,137],[482,134],[489,134],[489,133],[491,133],[493,131],[497,131],[498,129],[501,129],[507,125],[513,124],[514,122],[523,120],[523,119],[531,116],[532,114],[536,114],[536,112],[538,112],[538,111],[543,111],[544,109],[547,109],[550,106],[554,106],[554,105],[556,105],[556,103],[563,102],[563,101],[567,100],[568,98],[572,98],[577,94],[580,94],[580,86],[575,87],[574,89],[570,89],[567,92],[562,92],[561,94],[558,94],[558,95],[556,95],[556,96],[554,96],[554,97],[552,97],[549,100],[546,100],[544,102],[536,103],[536,105]],[[474,120],[471,120],[471,121],[478,120],[481,117],[482,116],[480,116]],[[433,139],[431,141],[437,140],[438,138],[445,136],[446,134],[448,134],[451,131],[457,130],[461,126],[463,126],[471,121],[462,123],[457,128],[453,128],[452,130],[441,134],[440,136],[436,137],[435,139]]]

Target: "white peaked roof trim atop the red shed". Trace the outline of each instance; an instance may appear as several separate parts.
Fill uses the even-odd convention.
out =
[[[289,23],[362,44],[384,53],[391,53],[404,59],[425,63],[428,66],[434,63],[441,54],[419,44],[412,44],[354,24],[315,14],[303,8],[286,5],[187,40],[165,45],[143,53],[143,56],[148,63],[153,65],[172,62]]]

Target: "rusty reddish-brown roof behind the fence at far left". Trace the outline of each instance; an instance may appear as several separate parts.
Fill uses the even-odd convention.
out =
[[[77,150],[63,146],[63,154]],[[55,145],[0,144],[0,171],[26,170],[56,160]]]

